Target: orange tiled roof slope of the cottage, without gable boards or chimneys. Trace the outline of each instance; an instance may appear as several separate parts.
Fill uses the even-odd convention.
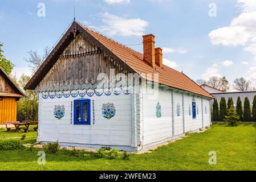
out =
[[[82,25],[80,25],[82,26]],[[120,57],[121,60],[126,62],[130,67],[135,69],[138,73],[159,73],[159,83],[170,86],[172,88],[186,90],[188,92],[196,93],[201,96],[214,98],[194,81],[192,81],[184,73],[178,72],[172,68],[164,65],[163,68],[152,68],[143,60],[143,55],[131,48],[125,47],[120,43],[115,42],[95,31],[82,26],[89,34],[94,36],[101,44],[110,49],[115,55]]]

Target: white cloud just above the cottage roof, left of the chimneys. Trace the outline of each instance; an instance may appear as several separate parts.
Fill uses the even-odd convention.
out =
[[[140,18],[128,19],[121,16],[103,13],[102,21],[105,25],[95,27],[96,30],[105,32],[108,36],[141,36],[148,26],[148,22]]]

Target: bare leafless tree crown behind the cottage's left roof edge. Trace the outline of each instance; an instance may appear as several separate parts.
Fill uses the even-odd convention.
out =
[[[46,57],[50,53],[50,49],[48,47],[45,47],[43,49],[43,55],[39,55],[37,51],[30,50],[27,52],[29,54],[29,58],[25,58],[24,60],[29,63],[29,67],[31,68],[31,72],[34,74],[36,70],[40,67],[40,65],[43,63],[43,61],[46,59]]]

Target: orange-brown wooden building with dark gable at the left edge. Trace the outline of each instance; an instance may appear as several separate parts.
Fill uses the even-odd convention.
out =
[[[0,67],[0,125],[5,121],[16,121],[17,101],[21,97],[25,94]]]

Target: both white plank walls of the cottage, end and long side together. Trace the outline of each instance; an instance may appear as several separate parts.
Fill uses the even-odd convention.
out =
[[[102,96],[86,97],[91,99],[91,125],[74,125],[74,100],[79,98],[55,97],[51,99],[48,97],[44,99],[42,94],[39,95],[38,141],[55,142],[59,140],[60,143],[137,147],[137,145],[146,146],[188,131],[198,130],[202,128],[202,119],[204,119],[204,127],[210,125],[209,100],[194,96],[198,114],[196,119],[193,119],[193,96],[191,94],[184,93],[184,106],[182,106],[181,92],[173,91],[172,101],[172,91],[159,88],[159,96],[152,99],[151,94],[145,92],[145,86],[136,97],[133,97],[133,94],[120,94],[119,96],[103,94]],[[92,121],[92,100],[95,103],[95,124]],[[101,107],[107,102],[113,102],[116,109],[116,115],[111,119],[105,119],[101,114]],[[161,105],[161,118],[156,117],[157,102]],[[180,105],[179,116],[177,115],[178,104]],[[65,116],[60,120],[54,117],[55,105],[65,106]]]

